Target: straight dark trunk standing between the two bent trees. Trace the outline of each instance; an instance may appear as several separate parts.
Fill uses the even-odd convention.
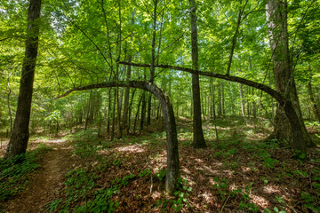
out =
[[[195,0],[189,0],[191,10],[191,46],[192,46],[192,67],[198,69],[198,43],[196,28],[196,3]],[[206,147],[204,141],[204,131],[201,119],[201,99],[199,75],[192,74],[192,97],[193,97],[193,141],[192,146],[196,148]]]

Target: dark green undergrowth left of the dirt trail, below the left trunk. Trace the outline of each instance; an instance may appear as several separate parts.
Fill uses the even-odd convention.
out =
[[[28,174],[39,167],[39,160],[48,146],[39,144],[35,150],[12,159],[0,160],[0,202],[12,199],[28,185]]]

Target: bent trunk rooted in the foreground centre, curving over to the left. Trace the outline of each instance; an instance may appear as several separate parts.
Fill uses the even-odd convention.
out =
[[[173,114],[172,103],[169,97],[156,86],[154,83],[150,82],[141,82],[141,81],[129,81],[129,82],[108,82],[108,83],[97,83],[84,87],[78,87],[67,91],[63,95],[57,97],[56,99],[60,99],[62,97],[67,96],[69,93],[73,91],[85,91],[92,90],[95,88],[108,88],[108,87],[132,87],[139,88],[144,91],[149,91],[159,99],[163,113],[164,120],[166,126],[166,149],[167,149],[167,171],[165,177],[165,190],[172,194],[175,191],[177,179],[179,177],[179,152],[178,152],[178,138],[177,138],[177,129],[175,118]]]

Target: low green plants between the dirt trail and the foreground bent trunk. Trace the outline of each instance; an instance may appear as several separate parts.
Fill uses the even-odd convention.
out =
[[[122,162],[114,159],[105,160],[95,166],[87,164],[82,168],[69,170],[60,191],[59,198],[47,204],[49,212],[114,212],[119,206],[116,195],[138,178],[154,178],[155,181],[165,179],[165,170],[154,174],[151,170],[140,170],[138,175],[127,172],[123,177],[111,180],[102,179],[108,169],[116,170]],[[178,204],[177,204],[178,205]]]

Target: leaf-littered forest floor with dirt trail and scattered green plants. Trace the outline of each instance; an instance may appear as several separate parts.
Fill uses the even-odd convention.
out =
[[[320,147],[308,156],[265,143],[264,119],[204,122],[207,148],[191,147],[192,122],[179,119],[180,180],[164,193],[165,132],[159,123],[113,142],[97,130],[33,138],[51,149],[28,173],[25,190],[4,212],[319,212]],[[313,136],[319,127],[309,127]],[[218,133],[218,138],[217,138]],[[315,139],[317,137],[315,136]],[[317,139],[318,140],[318,139]],[[318,142],[318,141],[317,141]],[[1,177],[0,177],[1,178]],[[1,180],[1,179],[0,179]],[[0,208],[0,212],[1,212]]]

